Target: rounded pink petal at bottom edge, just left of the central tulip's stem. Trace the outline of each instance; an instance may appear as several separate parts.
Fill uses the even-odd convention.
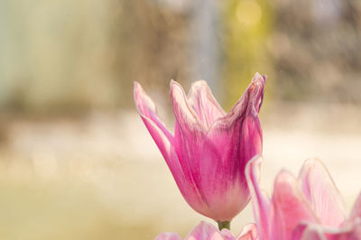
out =
[[[223,236],[216,226],[200,222],[188,235],[186,240],[223,240]]]

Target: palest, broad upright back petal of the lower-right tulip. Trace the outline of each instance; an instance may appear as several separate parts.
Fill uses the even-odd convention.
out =
[[[316,159],[307,160],[301,169],[301,189],[322,225],[340,226],[346,219],[341,195],[329,171]]]

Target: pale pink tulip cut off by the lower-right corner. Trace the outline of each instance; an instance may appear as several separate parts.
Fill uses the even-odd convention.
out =
[[[298,179],[281,171],[268,198],[257,181],[261,161],[255,157],[245,169],[260,239],[361,239],[361,195],[345,217],[342,198],[322,162],[306,161]]]

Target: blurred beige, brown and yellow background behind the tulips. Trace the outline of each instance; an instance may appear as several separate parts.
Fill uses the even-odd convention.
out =
[[[136,114],[137,80],[172,127],[169,82],[226,110],[255,72],[269,192],[319,157],[349,212],[360,188],[359,0],[0,1],[0,238],[183,237],[199,221]],[[253,221],[248,206],[232,224]]]

